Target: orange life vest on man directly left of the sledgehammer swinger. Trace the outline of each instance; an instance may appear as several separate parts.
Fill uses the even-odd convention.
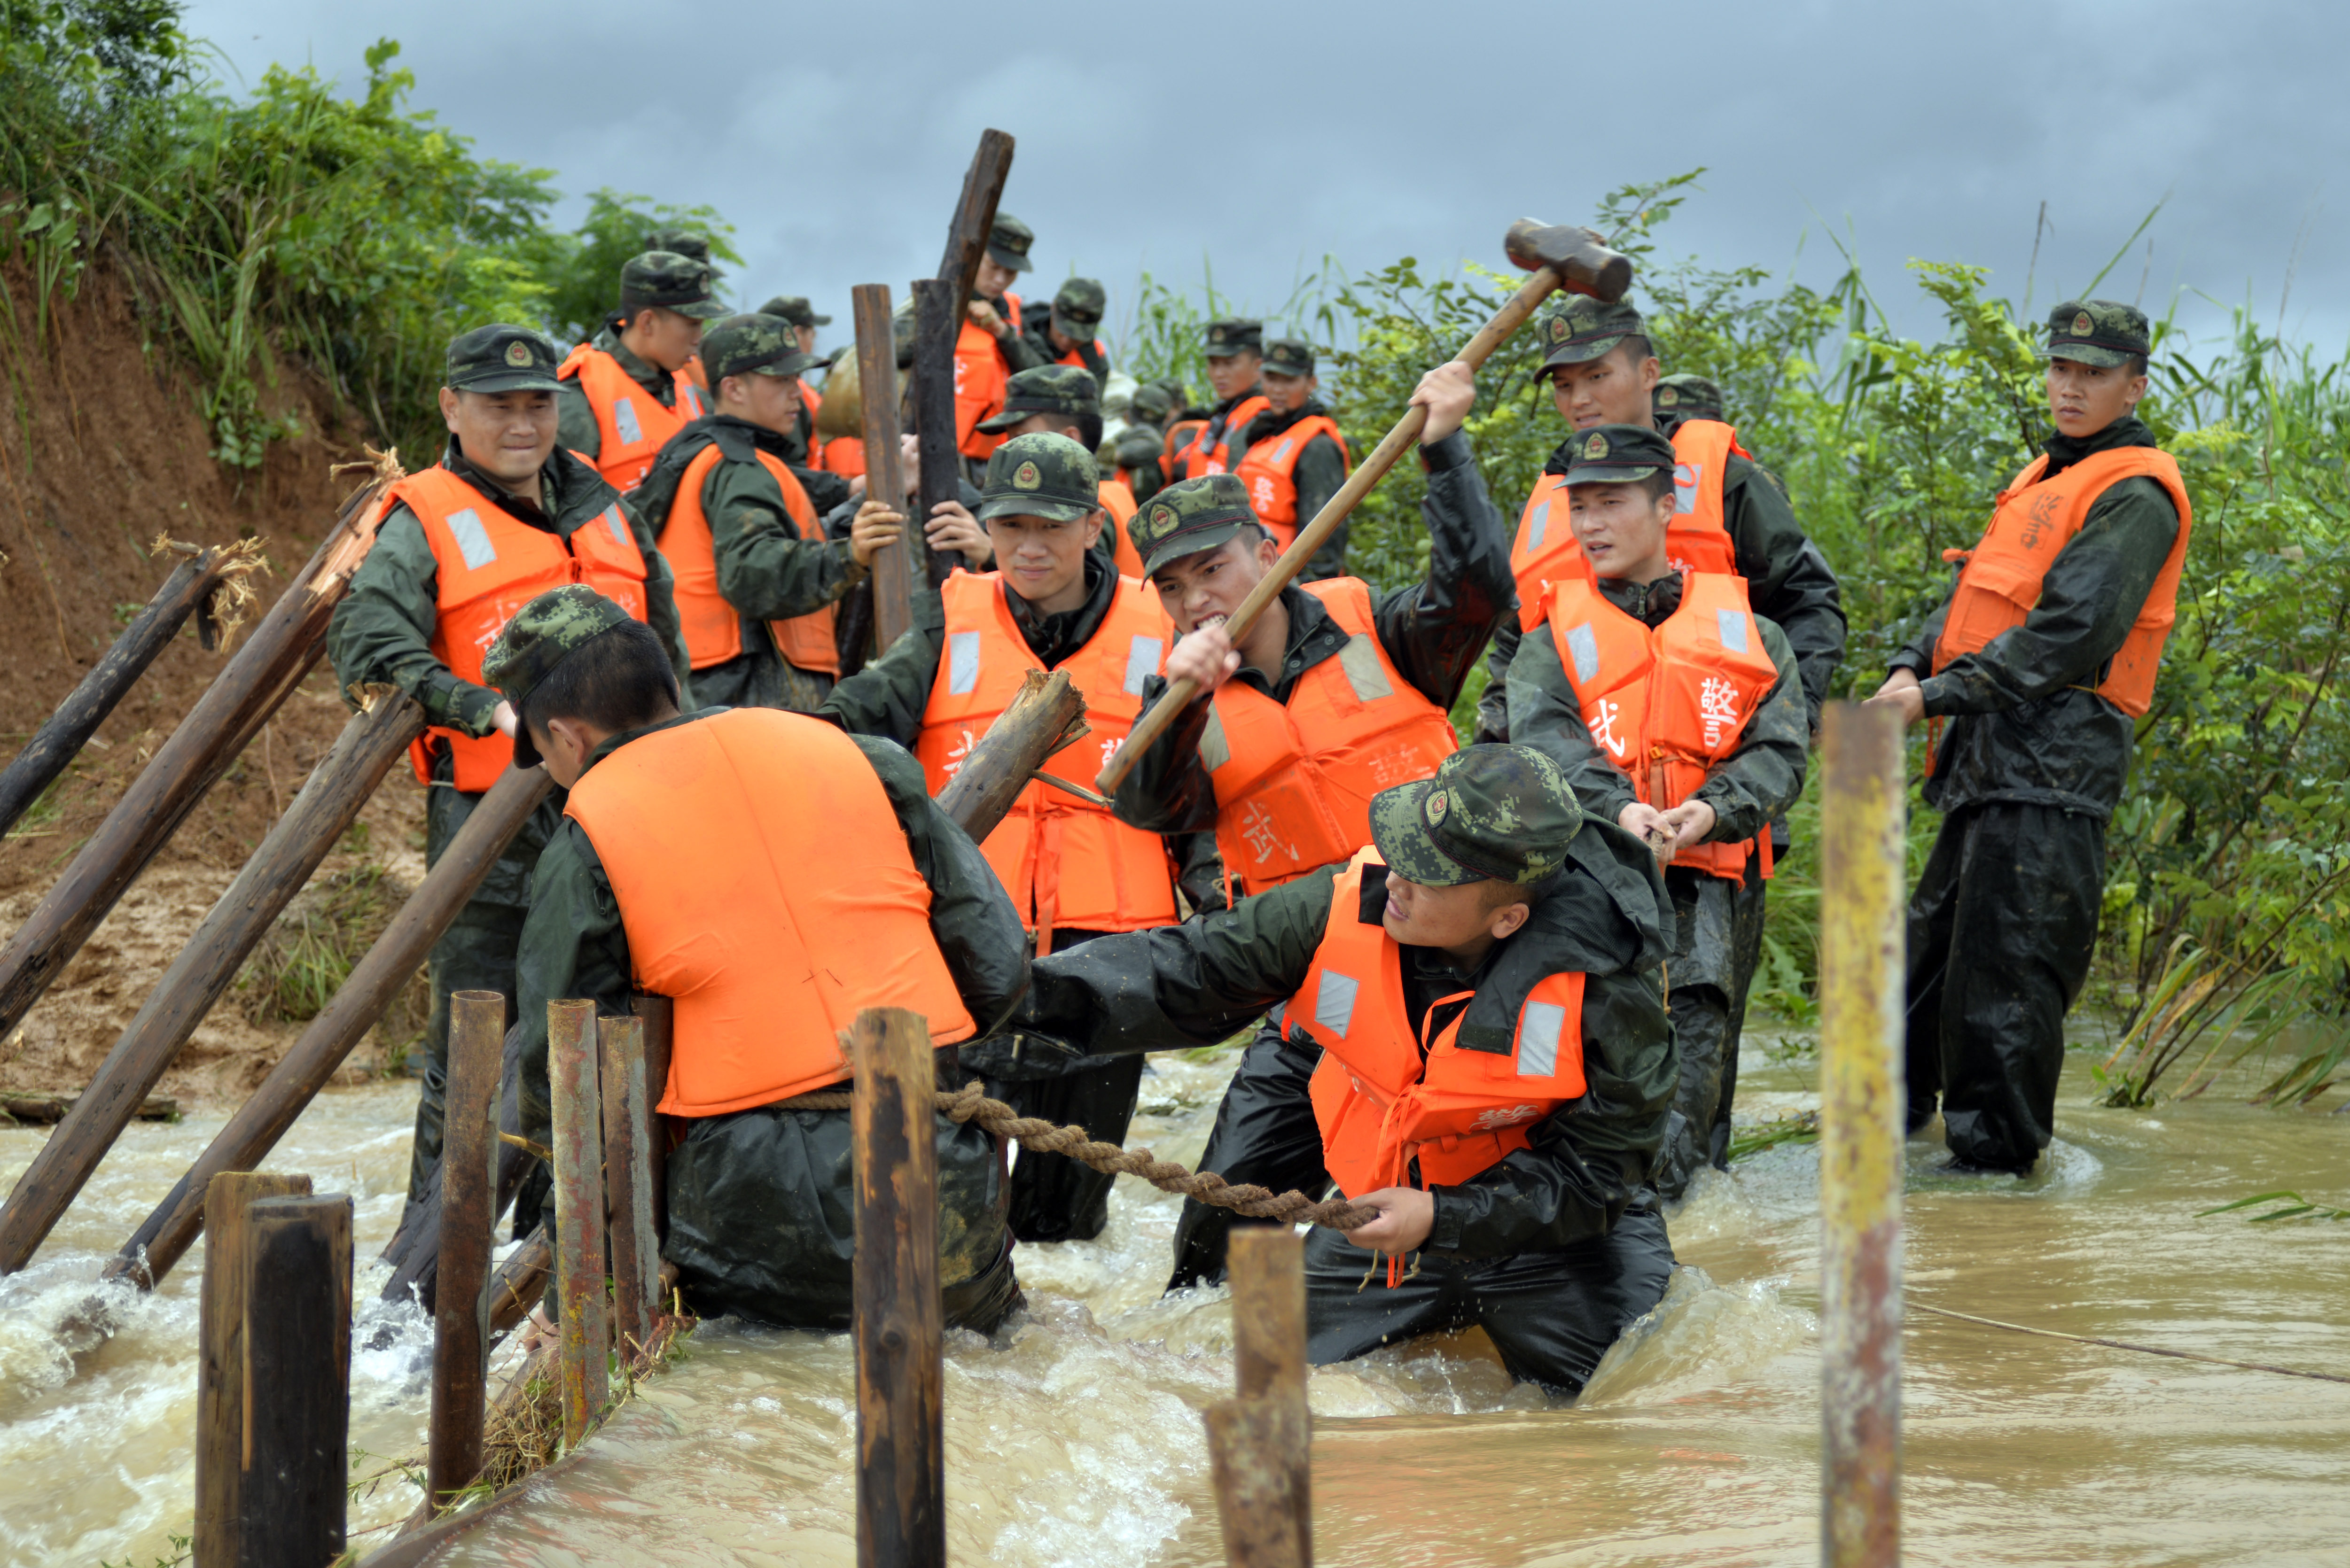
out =
[[[1013,623],[1001,574],[956,569],[940,585],[940,599],[947,646],[914,738],[931,795],[947,788],[1027,672],[1043,668]],[[1142,712],[1142,677],[1159,672],[1168,639],[1159,592],[1119,578],[1102,628],[1058,665],[1086,693],[1093,733],[1050,757],[1046,773],[1093,790],[1093,776]],[[1029,780],[980,849],[1020,907],[1020,919],[1036,933],[1039,952],[1050,950],[1055,926],[1142,931],[1175,924],[1175,884],[1159,835],[1128,827],[1067,790]]]

